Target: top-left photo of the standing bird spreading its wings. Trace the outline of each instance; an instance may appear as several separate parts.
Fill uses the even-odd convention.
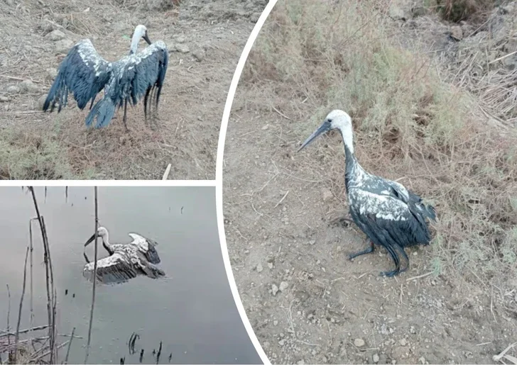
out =
[[[0,179],[214,179],[266,0],[4,2]]]

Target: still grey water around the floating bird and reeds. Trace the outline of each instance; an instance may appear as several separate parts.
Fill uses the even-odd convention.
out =
[[[47,224],[58,291],[58,328],[76,335],[70,363],[82,363],[92,300],[92,283],[82,276],[83,244],[94,231],[93,188],[36,188]],[[28,220],[34,207],[21,188],[0,188],[0,329],[6,328],[6,284],[11,289],[11,326],[16,323],[23,280],[23,259],[28,245]],[[183,207],[183,210],[182,210]],[[158,242],[166,279],[137,277],[115,286],[97,286],[92,350],[89,363],[155,363],[152,352],[163,349],[160,363],[260,362],[236,310],[224,271],[217,232],[215,191],[192,188],[99,188],[99,220],[109,230],[111,243],[126,243],[128,232]],[[33,325],[46,322],[43,249],[35,226],[33,252]],[[87,247],[93,258],[93,245]],[[99,257],[107,252],[99,245]],[[65,295],[67,291],[67,295]],[[27,284],[21,329],[30,325],[30,288]],[[16,309],[15,309],[16,308]],[[137,354],[129,355],[133,332]],[[38,332],[42,336],[45,332]],[[66,340],[60,337],[60,341]],[[65,350],[62,350],[64,356]],[[5,359],[5,356],[2,356]]]

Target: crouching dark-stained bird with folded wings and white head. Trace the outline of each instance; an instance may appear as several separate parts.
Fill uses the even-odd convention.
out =
[[[367,249],[350,254],[349,259],[374,252],[375,244],[384,247],[395,264],[395,270],[382,275],[394,276],[406,271],[409,258],[404,247],[429,245],[431,235],[425,218],[435,220],[435,208],[426,206],[420,196],[398,182],[369,174],[361,167],[354,155],[352,119],[344,111],[331,111],[298,151],[333,129],[339,130],[344,144],[344,184],[350,215],[370,241]],[[401,266],[401,257],[407,262],[405,267]]]

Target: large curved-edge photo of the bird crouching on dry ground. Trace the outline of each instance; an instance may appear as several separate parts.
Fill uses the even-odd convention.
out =
[[[271,362],[516,359],[517,6],[466,4],[280,0],[258,34],[223,211]]]

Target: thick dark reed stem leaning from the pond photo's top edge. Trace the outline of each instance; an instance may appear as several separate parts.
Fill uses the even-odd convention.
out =
[[[45,263],[45,283],[47,287],[47,312],[48,312],[48,337],[50,339],[50,364],[54,361],[54,347],[55,347],[55,291],[54,291],[54,274],[52,261],[50,260],[50,247],[48,246],[47,230],[45,228],[45,221],[40,215],[38,208],[38,201],[36,200],[36,193],[34,193],[33,186],[28,186],[33,196],[34,208],[38,216],[38,223],[40,224],[41,237],[43,240],[43,262]]]

